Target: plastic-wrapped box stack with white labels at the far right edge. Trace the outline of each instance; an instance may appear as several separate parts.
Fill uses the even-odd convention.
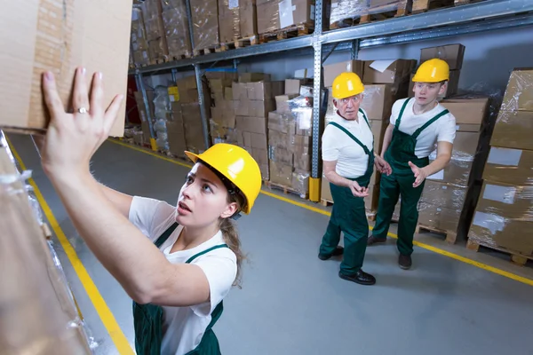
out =
[[[490,139],[469,242],[533,256],[533,70],[515,69]]]

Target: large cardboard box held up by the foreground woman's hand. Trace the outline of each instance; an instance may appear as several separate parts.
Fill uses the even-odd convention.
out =
[[[68,21],[64,21],[68,13]],[[48,125],[41,75],[52,71],[64,106],[69,106],[76,66],[87,77],[102,72],[106,84],[103,102],[116,94],[126,97],[130,53],[131,3],[90,0],[59,6],[48,2],[7,2],[0,12],[2,36],[0,66],[0,126],[4,130],[43,131]],[[9,34],[8,34],[9,33]],[[102,56],[101,53],[106,53]],[[110,136],[123,137],[126,99]]]

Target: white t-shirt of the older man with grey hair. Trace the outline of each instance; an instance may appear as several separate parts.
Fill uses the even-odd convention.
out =
[[[337,122],[352,133],[371,152],[374,146],[374,136],[362,113],[359,112],[357,116],[359,122],[347,121],[337,113],[332,122]],[[346,132],[331,124],[326,126],[322,135],[322,160],[337,161],[335,171],[341,177],[349,178],[364,175],[369,164],[369,156],[364,153],[362,146],[355,143]]]

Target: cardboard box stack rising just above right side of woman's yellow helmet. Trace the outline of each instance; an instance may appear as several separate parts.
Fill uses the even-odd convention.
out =
[[[261,176],[267,180],[267,117],[274,111],[274,97],[283,92],[283,82],[271,82],[270,75],[263,73],[244,73],[232,91],[237,143],[259,163]]]

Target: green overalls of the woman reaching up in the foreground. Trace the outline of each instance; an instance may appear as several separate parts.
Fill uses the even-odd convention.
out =
[[[155,246],[161,248],[163,243],[178,227],[177,223],[171,225],[158,239]],[[226,244],[216,245],[191,256],[186,264],[190,264],[198,256],[209,253],[217,248],[228,248]],[[187,355],[218,355],[220,354],[219,341],[212,330],[224,309],[222,301],[211,312],[211,322],[205,329],[202,340],[195,350]],[[163,307],[155,304],[137,304],[133,302],[133,323],[135,327],[135,350],[139,355],[159,355],[163,341]]]

